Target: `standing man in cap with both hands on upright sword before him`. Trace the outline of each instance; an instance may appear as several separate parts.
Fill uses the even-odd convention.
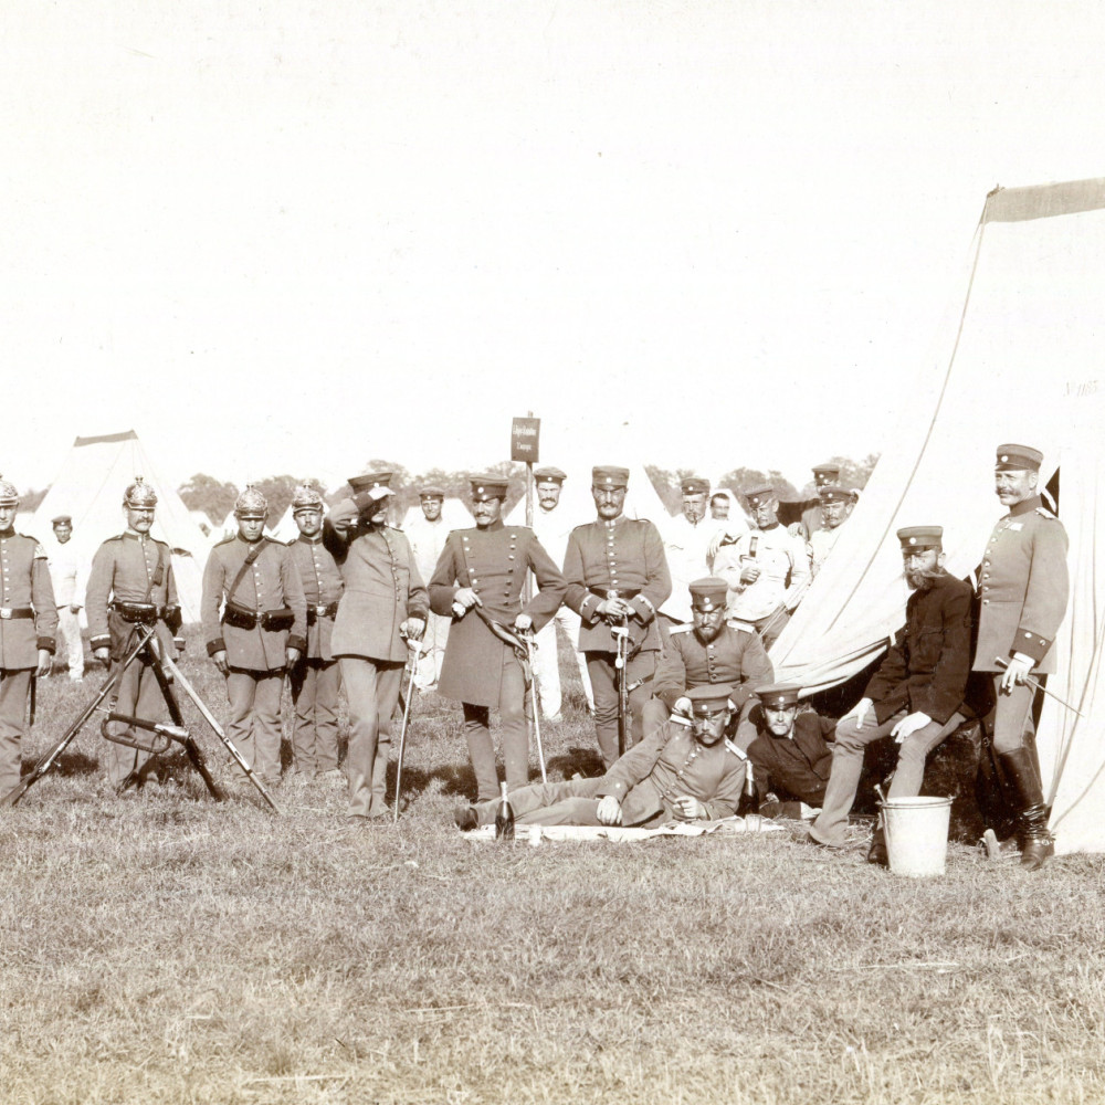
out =
[[[672,593],[660,532],[651,522],[622,514],[628,484],[628,469],[592,470],[591,495],[599,517],[571,532],[564,558],[565,601],[582,623],[579,651],[587,656],[594,692],[594,733],[607,768],[618,758],[618,644],[612,631],[622,627],[629,631],[625,677],[634,687],[630,708],[635,744],[644,733],[642,712],[651,696],[649,684],[660,652],[656,611]]]

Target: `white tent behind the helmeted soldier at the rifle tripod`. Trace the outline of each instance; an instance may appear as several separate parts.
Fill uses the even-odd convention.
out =
[[[139,475],[157,492],[157,514],[150,532],[180,550],[173,557],[173,573],[185,621],[199,621],[203,562],[210,541],[177,492],[155,471],[134,430],[77,438],[34,512],[29,532],[41,539],[51,532],[51,518],[72,515],[73,545],[91,564],[101,543],[126,528],[123,494]]]

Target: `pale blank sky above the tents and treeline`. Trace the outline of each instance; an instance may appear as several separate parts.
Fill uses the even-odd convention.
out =
[[[1098,3],[86,0],[4,23],[21,487],[131,428],[173,483],[482,469],[528,410],[565,467],[801,485],[882,448],[986,193],[1105,173]]]

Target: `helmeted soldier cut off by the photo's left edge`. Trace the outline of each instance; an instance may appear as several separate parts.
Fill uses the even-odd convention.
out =
[[[15,485],[0,478],[0,798],[19,786],[31,677],[50,671],[57,607],[46,550],[13,527]]]

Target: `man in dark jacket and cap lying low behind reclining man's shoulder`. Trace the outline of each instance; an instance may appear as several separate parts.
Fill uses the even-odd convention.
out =
[[[757,687],[759,705],[737,728],[736,745],[753,766],[753,782],[765,817],[800,818],[802,806],[820,809],[832,767],[836,723],[813,711],[798,713],[801,688],[776,683]],[[765,803],[768,793],[777,800]]]

